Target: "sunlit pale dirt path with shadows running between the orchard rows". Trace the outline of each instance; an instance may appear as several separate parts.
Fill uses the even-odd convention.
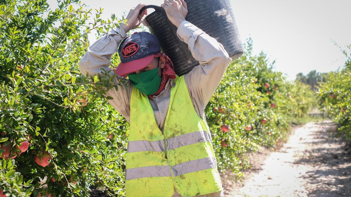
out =
[[[351,197],[351,150],[332,122],[295,129],[276,152],[255,155],[242,183],[224,183],[225,196]]]

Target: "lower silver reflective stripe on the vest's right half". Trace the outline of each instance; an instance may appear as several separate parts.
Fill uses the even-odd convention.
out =
[[[172,166],[173,176],[180,176],[185,173],[206,170],[209,168],[217,168],[216,158],[206,157]]]

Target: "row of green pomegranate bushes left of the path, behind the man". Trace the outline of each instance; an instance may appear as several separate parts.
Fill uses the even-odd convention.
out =
[[[78,70],[87,33],[124,20],[102,20],[100,9],[88,23],[92,11],[70,3],[77,9],[67,1],[53,11],[41,0],[0,5],[2,195],[89,196],[92,185],[124,195],[129,125],[104,96],[124,83]],[[245,47],[205,110],[218,168],[237,177],[250,166],[248,152],[283,140],[313,102],[307,86],[274,72],[264,53],[253,55],[251,40]],[[118,63],[112,56],[111,66]]]

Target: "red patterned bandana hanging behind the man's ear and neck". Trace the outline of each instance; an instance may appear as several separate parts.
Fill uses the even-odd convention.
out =
[[[156,93],[153,94],[153,95],[160,94],[160,92],[165,88],[166,83],[168,82],[168,80],[176,79],[176,76],[177,76],[176,72],[174,72],[174,67],[173,67],[173,63],[172,63],[171,59],[165,53],[156,53],[155,54],[155,57],[161,57],[161,56],[166,59],[165,67],[162,69],[161,85],[158,88],[158,90],[156,91]],[[148,95],[148,97],[152,97],[153,95]]]

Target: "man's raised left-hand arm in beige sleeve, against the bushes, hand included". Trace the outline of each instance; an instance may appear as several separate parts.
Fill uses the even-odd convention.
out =
[[[88,51],[79,61],[79,70],[82,74],[86,75],[86,73],[88,73],[89,76],[94,76],[95,74],[100,73],[101,69],[103,69],[103,72],[110,74],[113,73],[110,69],[111,57],[118,51],[120,42],[127,36],[126,33],[140,25],[137,16],[140,9],[144,6],[145,5],[139,4],[137,7],[130,10],[126,18],[128,20],[128,25],[122,24],[119,29],[113,28],[111,31],[102,35],[99,40],[89,46]],[[141,15],[144,14],[146,14],[146,11]],[[115,77],[115,83],[119,83],[119,80],[122,78],[124,77]],[[106,96],[111,96],[113,98],[112,100],[108,100],[108,102],[129,122],[130,98],[132,94],[132,86],[130,85],[129,80],[127,80],[127,87],[128,88],[119,87],[118,90],[112,88],[107,91]]]

